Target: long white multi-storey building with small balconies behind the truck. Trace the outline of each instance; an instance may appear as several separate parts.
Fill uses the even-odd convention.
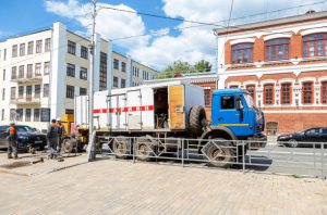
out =
[[[61,23],[0,41],[0,124],[44,129],[50,118],[73,113],[74,97],[88,93],[89,45]],[[156,74],[96,35],[95,90],[136,86]]]

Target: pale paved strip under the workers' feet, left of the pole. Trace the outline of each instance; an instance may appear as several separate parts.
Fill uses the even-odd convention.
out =
[[[43,159],[43,162],[40,161]],[[49,160],[47,153],[21,153],[17,160],[8,160],[7,153],[0,152],[0,173],[22,176],[36,176],[86,163],[86,154],[63,154],[63,162]]]

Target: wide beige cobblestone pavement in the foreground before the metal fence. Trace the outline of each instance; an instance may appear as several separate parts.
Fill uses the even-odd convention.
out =
[[[110,160],[0,178],[1,214],[327,214],[314,178]]]

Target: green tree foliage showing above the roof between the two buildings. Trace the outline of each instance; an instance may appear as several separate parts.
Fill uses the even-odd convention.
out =
[[[157,78],[172,78],[182,74],[206,73],[211,71],[211,64],[208,61],[201,60],[194,65],[184,61],[175,61],[172,65],[167,66]]]

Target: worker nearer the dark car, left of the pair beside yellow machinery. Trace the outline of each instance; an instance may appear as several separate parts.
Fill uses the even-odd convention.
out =
[[[48,150],[49,157],[53,159],[58,156],[57,147],[59,142],[59,126],[56,123],[56,119],[51,121],[51,124],[48,127],[47,138],[48,138]]]

